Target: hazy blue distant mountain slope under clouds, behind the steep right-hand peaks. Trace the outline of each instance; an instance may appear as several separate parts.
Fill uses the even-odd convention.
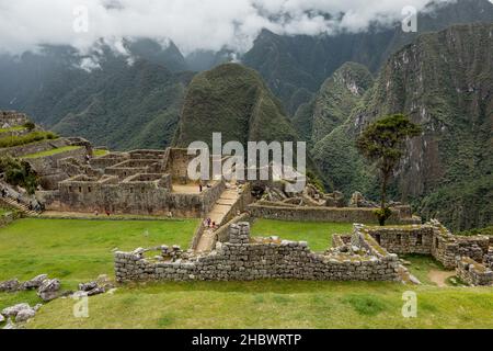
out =
[[[400,24],[391,29],[372,27],[365,33],[319,36],[264,31],[242,61],[261,72],[287,112],[294,115],[300,103],[309,101],[306,91],[314,93],[346,61],[363,64],[375,73],[417,35],[454,24],[491,22],[493,4],[489,0],[432,1],[426,11],[419,13],[419,33],[404,33]],[[300,91],[306,100],[300,100]]]

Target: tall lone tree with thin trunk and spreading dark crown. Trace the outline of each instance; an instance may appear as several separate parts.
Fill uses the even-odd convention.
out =
[[[372,122],[357,139],[357,148],[362,155],[374,162],[380,172],[380,210],[377,216],[382,226],[391,215],[390,208],[387,207],[389,180],[404,155],[405,141],[421,133],[420,125],[402,114],[394,114]]]

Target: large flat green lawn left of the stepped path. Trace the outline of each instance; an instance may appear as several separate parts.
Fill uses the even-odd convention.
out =
[[[198,219],[15,220],[0,228],[0,281],[47,273],[73,287],[99,274],[113,276],[113,250],[162,244],[186,249],[197,225]]]

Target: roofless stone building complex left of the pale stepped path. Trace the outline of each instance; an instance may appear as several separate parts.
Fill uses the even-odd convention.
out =
[[[203,217],[226,184],[223,180],[211,181],[200,193],[198,183],[186,177],[186,151],[111,152],[90,159],[83,167],[65,162],[62,167],[79,173],[58,182],[56,190],[36,195],[51,211]]]

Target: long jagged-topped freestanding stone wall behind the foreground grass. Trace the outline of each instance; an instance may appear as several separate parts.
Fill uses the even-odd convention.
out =
[[[357,234],[355,234],[357,235]],[[362,239],[364,241],[364,239]],[[142,250],[115,252],[118,282],[129,281],[250,281],[296,279],[328,281],[399,281],[398,257],[319,254],[307,242],[253,240],[250,225],[232,225],[226,244],[204,256],[176,260],[147,259]],[[169,258],[168,258],[169,259]]]

